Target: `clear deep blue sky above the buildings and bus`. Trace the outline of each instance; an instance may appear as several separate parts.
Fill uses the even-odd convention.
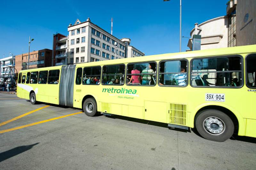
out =
[[[196,22],[225,15],[226,1],[182,0],[182,36],[189,37]],[[88,17],[109,33],[113,17],[113,35],[131,38],[131,45],[146,55],[178,52],[179,5],[179,0],[3,1],[0,58],[28,52],[29,35],[35,39],[31,51],[52,49],[53,34],[68,35],[69,23]],[[182,51],[187,43],[182,38]]]

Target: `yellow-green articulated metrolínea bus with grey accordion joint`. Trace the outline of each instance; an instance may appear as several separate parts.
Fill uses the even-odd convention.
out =
[[[212,141],[256,137],[256,45],[22,70],[17,96],[196,128]]]

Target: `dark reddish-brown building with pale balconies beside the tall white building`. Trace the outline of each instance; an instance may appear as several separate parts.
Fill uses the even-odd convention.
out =
[[[59,33],[54,34],[52,49],[52,66],[66,65],[68,59],[68,37]]]

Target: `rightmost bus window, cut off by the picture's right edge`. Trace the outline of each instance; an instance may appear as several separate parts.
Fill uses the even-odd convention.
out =
[[[256,88],[255,73],[256,73],[256,54],[251,54],[245,58],[246,63],[246,85],[249,88]]]

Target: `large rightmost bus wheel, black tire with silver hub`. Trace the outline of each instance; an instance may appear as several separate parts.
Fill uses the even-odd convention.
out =
[[[234,133],[233,121],[219,110],[204,110],[198,113],[195,120],[196,130],[207,140],[224,142]]]

